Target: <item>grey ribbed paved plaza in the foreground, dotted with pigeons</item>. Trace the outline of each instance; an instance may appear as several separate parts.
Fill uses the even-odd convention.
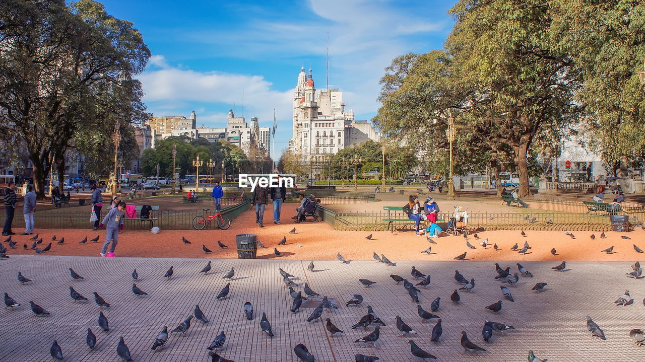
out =
[[[221,330],[226,333],[221,354],[234,361],[297,361],[293,354],[297,343],[304,343],[317,361],[353,361],[356,353],[379,356],[381,361],[407,361],[411,355],[406,341],[410,338],[440,361],[526,361],[530,349],[550,361],[645,361],[645,348],[634,347],[628,336],[633,328],[645,328],[645,281],[624,276],[631,271],[628,262],[571,262],[567,272],[551,271],[550,267],[557,264],[553,262],[522,262],[535,277],[521,278],[518,285],[510,287],[515,303],[504,301],[501,312],[493,314],[484,307],[503,297],[500,283],[493,280],[496,273],[492,262],[398,262],[396,267],[387,267],[375,262],[317,261],[316,271],[308,272],[308,260],[212,261],[212,272],[204,276],[198,273],[206,263],[204,259],[17,255],[0,260],[0,292],[7,292],[22,304],[15,310],[4,306],[0,310],[0,361],[51,361],[49,348],[53,339],[61,346],[65,361],[120,361],[115,353],[119,336],[124,336],[134,361],[208,361],[205,348]],[[171,280],[163,280],[170,265],[174,265],[175,274]],[[410,278],[412,265],[432,275],[430,287],[419,294],[422,307],[430,310],[430,302],[437,296],[442,298],[437,314],[442,317],[444,334],[439,343],[430,342],[434,323],[422,322],[403,286],[389,278],[390,274]],[[506,265],[516,270],[515,263],[502,263]],[[232,266],[236,274],[231,292],[228,298],[215,300],[226,284],[221,276]],[[69,267],[85,279],[72,280]],[[332,338],[323,321],[307,323],[312,307],[303,305],[296,314],[289,311],[292,299],[278,267],[299,278],[295,281],[308,281],[314,291],[339,301],[339,309],[324,313],[323,318],[329,316],[344,335]],[[144,298],[131,291],[130,274],[135,268],[139,273],[137,286],[150,294]],[[449,298],[460,286],[452,278],[455,269],[477,283],[473,292],[461,293],[459,305],[453,305]],[[33,281],[21,285],[16,278],[18,271]],[[377,284],[366,289],[357,281],[359,278]],[[537,281],[546,281],[548,290],[532,292]],[[90,301],[72,303],[70,285]],[[633,305],[613,305],[625,289],[630,290]],[[92,298],[94,291],[112,303],[112,307],[104,309],[109,332],[97,326],[99,307]],[[345,307],[344,301],[354,293],[364,297],[362,306]],[[34,317],[30,300],[52,314]],[[244,319],[245,301],[253,303],[253,321]],[[165,350],[150,350],[157,332],[164,325],[174,329],[197,303],[210,323],[194,320],[186,337],[172,334]],[[379,350],[353,343],[368,334],[350,328],[365,314],[368,304],[388,324],[381,329]],[[262,312],[272,323],[274,338],[259,332]],[[587,314],[604,329],[607,341],[589,338],[584,321]],[[419,335],[398,338],[396,315]],[[481,337],[486,319],[513,325],[516,330],[486,343]],[[97,336],[94,350],[85,345],[88,327]],[[477,357],[462,356],[461,330],[466,330],[471,341],[488,352]]]

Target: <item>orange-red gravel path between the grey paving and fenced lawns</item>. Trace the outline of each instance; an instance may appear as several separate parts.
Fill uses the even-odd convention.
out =
[[[264,213],[266,227],[260,228],[255,224],[255,212],[245,211],[239,217],[232,220],[231,227],[226,231],[221,230],[161,230],[159,234],[152,234],[145,230],[124,230],[119,234],[119,244],[115,251],[117,256],[148,256],[163,258],[237,258],[235,247],[235,234],[258,234],[259,240],[264,243],[266,249],[258,249],[258,258],[284,258],[293,260],[335,260],[336,253],[341,252],[346,260],[372,260],[372,251],[385,254],[393,262],[397,260],[452,260],[455,256],[468,251],[467,260],[581,260],[581,261],[623,261],[645,259],[645,254],[634,251],[632,244],[638,245],[645,250],[645,231],[637,229],[630,233],[606,232],[607,238],[600,239],[600,233],[593,233],[596,240],[591,240],[591,232],[575,232],[575,240],[561,231],[526,231],[527,236],[522,237],[520,231],[484,231],[478,233],[480,240],[475,240],[472,235],[468,237],[471,244],[477,249],[468,249],[462,236],[442,236],[435,238],[436,244],[430,244],[425,237],[415,236],[413,231],[401,231],[390,233],[389,231],[377,231],[373,233],[372,240],[366,240],[368,232],[364,231],[336,231],[324,222],[306,222],[294,224],[291,216],[297,204],[285,204],[283,224],[273,224],[273,211],[271,205],[267,205]],[[36,214],[36,218],[38,215]],[[88,225],[90,225],[88,223]],[[295,226],[296,232],[289,231]],[[14,232],[20,233],[21,229],[14,228]],[[52,245],[48,254],[75,255],[75,256],[98,256],[103,241],[105,230],[92,231],[91,229],[35,229],[40,233],[43,243],[39,245],[42,249],[46,246],[55,234],[57,240],[64,236],[63,245]],[[79,241],[85,236],[94,238],[100,236],[98,243],[88,242],[79,245]],[[622,239],[620,236],[628,235],[631,240]],[[191,245],[184,245],[181,236],[192,242]],[[285,245],[277,243],[286,236]],[[15,249],[9,249],[8,255],[12,254],[35,254],[34,251],[25,251],[23,243],[31,247],[33,241],[28,240],[31,236],[14,235],[13,240],[17,243]],[[478,243],[488,238],[491,245],[483,249]],[[5,238],[3,238],[4,240]],[[221,240],[228,249],[220,249],[217,240]],[[532,249],[528,254],[521,255],[511,251],[514,243],[519,243],[521,249],[524,241],[528,242]],[[497,243],[500,251],[494,251],[492,244]],[[201,245],[213,252],[204,254]],[[6,247],[8,245],[4,244]],[[300,247],[298,245],[301,245]],[[613,254],[602,254],[600,251],[615,245]],[[432,246],[432,254],[421,254],[421,251]],[[277,257],[273,254],[273,247],[285,254]],[[551,248],[557,249],[557,255],[552,256]]]

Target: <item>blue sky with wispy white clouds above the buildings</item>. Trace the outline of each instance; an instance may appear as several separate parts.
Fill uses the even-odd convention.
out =
[[[344,92],[355,118],[378,110],[379,79],[397,55],[442,47],[452,1],[106,0],[107,12],[134,23],[152,52],[143,82],[148,111],[197,113],[198,126],[223,127],[235,107],[247,121],[278,128],[275,157],[292,133],[293,88],[301,66]],[[243,99],[244,93],[244,99]],[[242,103],[244,101],[244,109]]]

